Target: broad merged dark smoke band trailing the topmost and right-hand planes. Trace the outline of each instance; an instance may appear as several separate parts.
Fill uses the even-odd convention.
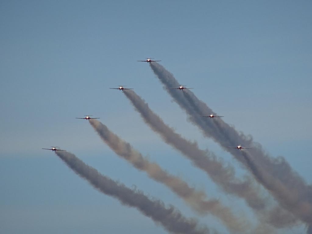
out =
[[[312,224],[312,188],[291,169],[284,158],[270,157],[263,151],[260,144],[253,142],[251,136],[247,137],[243,133],[238,133],[222,119],[211,121],[211,119],[199,117],[199,115],[213,113],[213,111],[189,90],[187,92],[169,90],[169,87],[179,85],[177,80],[163,66],[157,63],[151,63],[150,66],[168,93],[187,112],[189,120],[197,125],[206,137],[214,139],[223,149],[246,166],[285,210],[300,218],[301,221]],[[237,144],[246,144],[252,148],[245,152],[248,158],[253,158],[252,166],[246,157],[241,156],[241,151],[227,148],[227,146]],[[289,218],[291,220],[291,217]],[[275,225],[284,225],[276,223],[278,220],[271,220],[271,222]]]

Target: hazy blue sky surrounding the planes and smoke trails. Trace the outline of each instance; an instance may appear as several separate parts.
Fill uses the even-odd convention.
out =
[[[86,120],[75,119],[88,114],[252,218],[244,202],[219,190],[163,143],[121,92],[108,89],[134,88],[178,133],[245,174],[187,121],[149,65],[137,62],[146,57],[162,60],[224,121],[272,156],[284,156],[311,184],[311,11],[311,1],[0,1],[0,232],[166,233],[41,149],[56,145],[227,233],[115,155]],[[304,225],[281,230],[304,232]]]

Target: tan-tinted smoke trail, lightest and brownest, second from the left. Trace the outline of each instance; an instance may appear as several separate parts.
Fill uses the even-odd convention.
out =
[[[127,92],[128,91],[129,90],[127,90]],[[114,150],[116,154],[126,159],[135,168],[148,173],[149,177],[165,184],[174,193],[188,202],[195,210],[202,214],[210,212],[217,216],[232,233],[249,233],[251,225],[245,218],[235,217],[229,208],[222,206],[216,199],[207,200],[207,196],[203,191],[196,191],[194,188],[188,186],[181,178],[169,174],[157,163],[150,162],[147,158],[143,157],[142,154],[133,149],[129,143],[120,139],[98,120],[91,119],[89,122],[101,139]]]

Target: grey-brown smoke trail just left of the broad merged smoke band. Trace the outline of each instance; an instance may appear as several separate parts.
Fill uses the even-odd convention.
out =
[[[162,139],[189,158],[193,164],[205,171],[208,176],[219,185],[225,192],[234,194],[246,200],[247,204],[262,216],[268,215],[268,205],[265,198],[261,197],[259,188],[255,187],[253,180],[245,176],[245,180],[240,180],[235,176],[235,169],[231,166],[224,166],[222,160],[218,160],[216,155],[208,150],[199,149],[196,142],[191,142],[177,134],[173,128],[163,122],[156,115],[149,105],[134,91],[124,92],[124,95],[131,101],[135,109],[140,113],[145,123],[149,125]],[[270,207],[271,208],[271,207]],[[285,222],[285,214],[275,207],[275,217],[281,215],[280,222]],[[271,212],[274,211],[271,210]],[[278,213],[276,213],[278,211]],[[270,212],[270,211],[269,211]],[[267,221],[271,224],[271,222]],[[262,228],[267,228],[264,225]]]

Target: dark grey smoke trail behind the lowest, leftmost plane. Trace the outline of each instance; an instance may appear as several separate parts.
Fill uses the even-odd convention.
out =
[[[106,195],[117,198],[122,204],[135,207],[145,216],[160,223],[171,233],[207,234],[207,227],[198,227],[197,221],[184,217],[179,210],[170,205],[166,207],[160,200],[152,200],[141,190],[127,188],[85,164],[74,154],[66,151],[55,151],[69,168],[81,178],[86,179],[94,188]]]

